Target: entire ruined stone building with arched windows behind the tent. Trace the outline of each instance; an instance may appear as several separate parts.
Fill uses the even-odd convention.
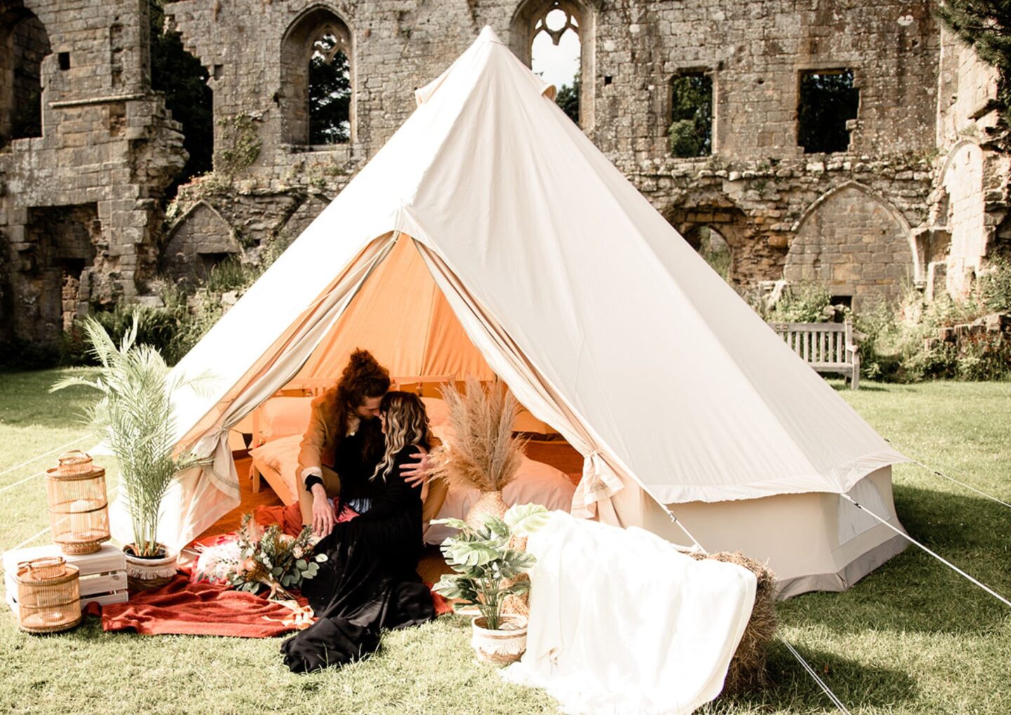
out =
[[[210,77],[214,171],[182,187],[159,236],[155,199],[184,156],[150,91],[146,3],[0,1],[4,96],[18,97],[0,123],[8,335],[50,340],[156,273],[283,247],[481,26],[529,63],[552,11],[578,34],[582,129],[693,245],[722,237],[737,284],[812,280],[856,307],[907,285],[959,294],[1009,231],[1008,159],[987,143],[994,74],[925,0],[180,0],[166,25]],[[339,141],[314,144],[320,47],[346,58],[350,105]],[[15,65],[37,66],[41,89],[23,138]],[[852,114],[841,143],[812,151],[799,106],[825,77],[847,83]],[[683,78],[709,93],[702,156],[668,141]]]

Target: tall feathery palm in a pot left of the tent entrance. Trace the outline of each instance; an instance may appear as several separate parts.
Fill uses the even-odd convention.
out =
[[[177,473],[200,463],[192,451],[176,449],[170,395],[205,376],[170,379],[158,350],[135,344],[136,314],[118,346],[94,318],[85,320],[84,330],[98,375],[67,377],[50,391],[84,385],[100,392],[83,421],[119,464],[119,488],[125,489],[133,528],[132,543],[123,546],[128,586],[133,591],[163,586],[176,573],[178,554],[157,539],[162,501]]]

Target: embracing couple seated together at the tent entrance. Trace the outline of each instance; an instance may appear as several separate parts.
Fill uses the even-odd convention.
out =
[[[389,372],[356,350],[337,385],[312,403],[298,454],[302,523],[328,560],[302,595],[317,617],[281,646],[294,672],[358,659],[384,628],[435,616],[418,576],[423,523],[445,499],[426,484],[433,446],[421,397],[390,391]],[[423,488],[428,496],[423,503]]]

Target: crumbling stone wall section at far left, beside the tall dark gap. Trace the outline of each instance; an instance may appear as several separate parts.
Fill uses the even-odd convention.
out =
[[[135,295],[154,275],[156,199],[186,154],[150,90],[146,0],[5,2],[0,37],[6,87],[18,42],[52,49],[40,136],[5,136],[0,148],[0,338],[54,343],[90,303]],[[0,127],[11,111],[0,106]]]

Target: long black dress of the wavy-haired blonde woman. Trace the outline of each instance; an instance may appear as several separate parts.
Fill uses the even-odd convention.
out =
[[[342,473],[342,503],[364,498],[371,508],[336,524],[316,544],[315,553],[329,558],[315,577],[302,583],[302,595],[318,620],[281,645],[293,673],[357,660],[378,648],[381,629],[435,618],[432,594],[418,575],[421,489],[400,477],[400,465],[415,460],[416,450],[400,450],[385,480],[369,480],[368,468]]]

